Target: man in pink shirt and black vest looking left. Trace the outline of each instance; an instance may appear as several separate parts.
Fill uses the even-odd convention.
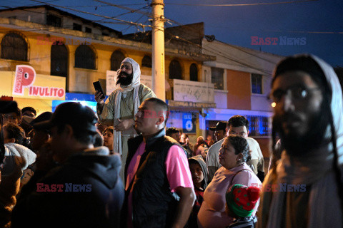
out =
[[[123,227],[184,227],[194,204],[192,175],[182,146],[165,135],[169,108],[144,100],[136,113],[141,135],[128,141]]]

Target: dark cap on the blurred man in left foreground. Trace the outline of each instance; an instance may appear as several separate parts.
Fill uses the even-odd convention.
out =
[[[76,102],[66,102],[56,107],[50,120],[36,123],[34,128],[49,130],[56,125],[69,124],[74,129],[96,133],[97,120],[98,118],[91,108]]]

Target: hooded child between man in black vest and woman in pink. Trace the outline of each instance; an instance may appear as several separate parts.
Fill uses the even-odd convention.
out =
[[[188,159],[189,170],[191,170],[194,192],[197,200],[194,203],[192,213],[189,217],[188,227],[198,227],[197,216],[202,202],[204,201],[204,191],[207,187],[207,166],[202,155],[190,157]]]

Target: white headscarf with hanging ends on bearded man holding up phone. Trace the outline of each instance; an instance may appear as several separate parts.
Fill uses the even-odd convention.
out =
[[[115,101],[116,108],[114,109],[114,126],[119,123],[118,119],[120,118],[120,101],[121,101],[121,95],[126,95],[126,93],[129,93],[131,90],[134,90],[134,114],[137,113],[140,102],[139,102],[139,85],[141,84],[141,69],[139,68],[139,64],[134,61],[132,58],[125,58],[122,63],[131,63],[132,65],[132,73],[134,74],[132,77],[132,82],[129,84],[129,86],[121,86],[118,84],[116,86],[116,90],[118,92],[116,93]],[[119,152],[121,155],[121,133],[113,130],[113,145],[116,145],[116,148],[113,148],[114,151]]]

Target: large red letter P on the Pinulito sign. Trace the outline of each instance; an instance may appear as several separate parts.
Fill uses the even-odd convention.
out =
[[[13,93],[16,95],[24,95],[24,87],[31,86],[35,78],[36,71],[34,71],[32,66],[17,65]]]

